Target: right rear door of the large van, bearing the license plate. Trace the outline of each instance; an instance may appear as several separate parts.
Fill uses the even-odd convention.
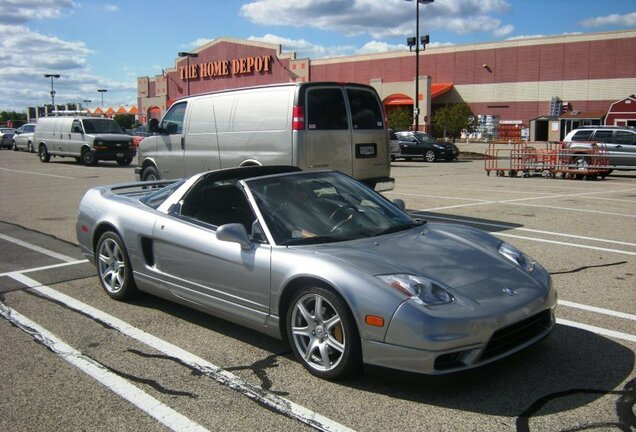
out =
[[[388,177],[390,152],[380,98],[373,89],[361,86],[347,86],[346,94],[351,113],[351,175],[361,180]]]

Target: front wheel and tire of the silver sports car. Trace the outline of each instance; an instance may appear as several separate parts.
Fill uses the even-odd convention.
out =
[[[360,371],[358,328],[344,300],[332,291],[300,289],[287,309],[286,330],[294,355],[312,375],[336,380]]]

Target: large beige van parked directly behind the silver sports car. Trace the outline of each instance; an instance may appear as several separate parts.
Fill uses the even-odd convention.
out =
[[[151,131],[139,145],[138,180],[285,164],[340,170],[378,190],[395,184],[384,110],[367,85],[289,83],[191,96]]]

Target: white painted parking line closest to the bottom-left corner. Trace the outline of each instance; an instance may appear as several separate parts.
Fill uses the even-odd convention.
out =
[[[2,302],[0,302],[0,315],[25,333],[30,334],[33,339],[50,351],[173,431],[204,432],[208,430],[163,404],[126,379],[110,372],[102,364],[83,355],[44,327]]]

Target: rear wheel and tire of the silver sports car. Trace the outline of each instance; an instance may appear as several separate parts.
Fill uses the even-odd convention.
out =
[[[99,282],[111,298],[126,300],[137,294],[132,266],[124,243],[116,233],[106,231],[95,249]]]

